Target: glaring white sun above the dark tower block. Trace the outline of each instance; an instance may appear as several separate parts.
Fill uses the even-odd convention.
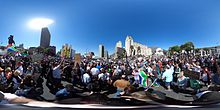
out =
[[[43,27],[48,27],[53,24],[54,21],[49,18],[34,18],[28,22],[28,26],[32,29],[41,29]]]

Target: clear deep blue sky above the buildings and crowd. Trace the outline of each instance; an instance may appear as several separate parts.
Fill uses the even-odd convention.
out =
[[[0,45],[14,35],[16,45],[39,46],[40,30],[27,24],[49,18],[51,45],[76,52],[110,54],[127,35],[135,42],[168,49],[191,41],[195,47],[220,45],[220,0],[0,0]]]

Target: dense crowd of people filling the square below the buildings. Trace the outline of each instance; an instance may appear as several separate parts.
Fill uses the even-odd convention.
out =
[[[191,77],[194,75],[198,77]],[[158,86],[167,91],[172,91],[174,85],[198,91],[201,82],[207,87],[220,85],[220,69],[215,56],[173,55],[108,62],[83,59],[80,63],[63,58],[45,57],[33,62],[31,57],[0,56],[0,91],[37,99],[43,94],[44,81],[58,98],[69,97],[77,92],[76,88],[90,94],[108,91],[117,97]],[[63,86],[62,81],[69,84]]]

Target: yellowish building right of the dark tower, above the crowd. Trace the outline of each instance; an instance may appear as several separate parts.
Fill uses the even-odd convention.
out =
[[[64,44],[62,46],[61,57],[72,59],[74,55],[75,55],[75,50],[72,49],[71,45]]]

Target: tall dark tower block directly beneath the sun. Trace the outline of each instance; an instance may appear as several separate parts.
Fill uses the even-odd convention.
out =
[[[48,48],[50,46],[50,32],[47,27],[41,29],[40,46]]]

